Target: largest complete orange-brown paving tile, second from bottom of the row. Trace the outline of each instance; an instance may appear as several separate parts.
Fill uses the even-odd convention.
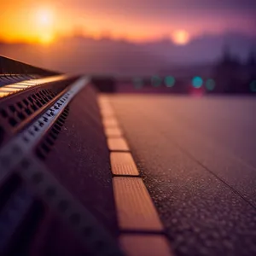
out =
[[[113,177],[113,194],[120,230],[163,230],[142,178]]]

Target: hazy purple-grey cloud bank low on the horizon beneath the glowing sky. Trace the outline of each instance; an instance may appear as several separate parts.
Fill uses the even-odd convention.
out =
[[[169,40],[131,44],[110,38],[62,38],[49,45],[46,53],[44,46],[41,49],[38,45],[0,44],[0,54],[64,72],[131,75],[153,74],[181,64],[216,61],[225,44],[245,60],[248,51],[256,46],[256,38],[239,32],[204,35],[183,46]]]

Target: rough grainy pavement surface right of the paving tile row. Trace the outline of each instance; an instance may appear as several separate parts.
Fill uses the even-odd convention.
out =
[[[177,255],[256,253],[256,101],[111,96]]]

